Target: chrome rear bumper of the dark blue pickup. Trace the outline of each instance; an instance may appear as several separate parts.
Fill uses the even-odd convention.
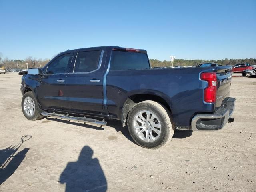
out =
[[[191,121],[192,130],[200,131],[222,129],[234,112],[235,102],[235,98],[227,97],[222,101],[221,107],[218,108],[216,112],[210,114],[196,114]]]

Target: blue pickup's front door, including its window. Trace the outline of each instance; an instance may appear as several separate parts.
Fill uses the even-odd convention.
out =
[[[66,109],[66,77],[72,53],[62,54],[52,60],[42,74],[41,85],[37,88],[39,104],[43,109]]]

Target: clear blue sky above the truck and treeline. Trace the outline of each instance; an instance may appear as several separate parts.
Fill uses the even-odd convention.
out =
[[[0,0],[3,57],[122,46],[149,58],[256,58],[256,0]]]

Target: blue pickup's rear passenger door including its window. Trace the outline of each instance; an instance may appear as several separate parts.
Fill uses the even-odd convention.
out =
[[[86,49],[75,53],[76,58],[66,78],[70,109],[77,113],[104,114],[103,60],[104,49]]]

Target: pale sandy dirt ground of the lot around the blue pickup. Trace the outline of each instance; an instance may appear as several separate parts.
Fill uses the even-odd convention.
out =
[[[232,78],[233,123],[178,131],[158,150],[134,144],[118,121],[26,120],[20,78],[0,74],[1,192],[256,191],[256,78]]]

